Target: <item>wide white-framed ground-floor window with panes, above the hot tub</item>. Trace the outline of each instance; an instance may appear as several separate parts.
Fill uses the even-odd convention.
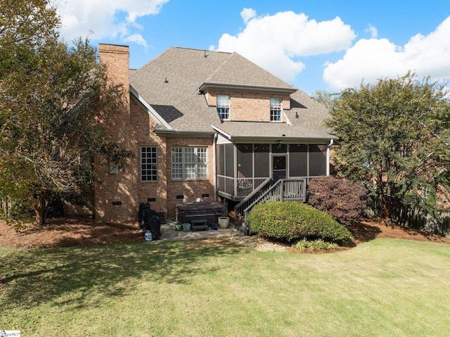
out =
[[[207,146],[172,146],[172,180],[208,178]]]

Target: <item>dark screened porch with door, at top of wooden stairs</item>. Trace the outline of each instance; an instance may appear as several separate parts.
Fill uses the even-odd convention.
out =
[[[328,174],[326,144],[217,144],[217,193],[241,201],[266,179]]]

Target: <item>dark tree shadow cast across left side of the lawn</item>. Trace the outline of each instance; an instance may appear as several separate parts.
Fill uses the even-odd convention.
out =
[[[84,307],[92,293],[125,295],[139,279],[190,284],[191,275],[205,272],[205,257],[245,251],[227,239],[13,250],[0,264],[0,298],[8,307],[49,302]],[[209,265],[207,272],[219,269]]]

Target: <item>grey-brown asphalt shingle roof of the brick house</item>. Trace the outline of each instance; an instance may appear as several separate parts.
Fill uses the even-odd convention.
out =
[[[291,125],[221,122],[216,108],[208,106],[205,96],[197,92],[205,82],[296,89],[238,53],[219,51],[171,47],[130,72],[131,87],[176,131],[213,132],[214,125],[237,137],[334,138],[323,126],[328,110],[303,91],[291,94],[291,109],[284,110]]]

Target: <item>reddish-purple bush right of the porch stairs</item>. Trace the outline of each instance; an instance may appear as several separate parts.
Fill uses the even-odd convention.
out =
[[[364,215],[366,200],[367,190],[359,182],[329,176],[311,179],[308,184],[307,203],[345,226]]]

